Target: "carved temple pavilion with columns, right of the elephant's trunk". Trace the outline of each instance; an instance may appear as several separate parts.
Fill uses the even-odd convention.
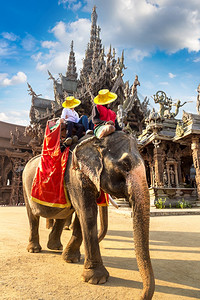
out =
[[[200,115],[183,111],[182,120],[175,117],[180,100],[172,112],[172,99],[165,92],[154,95],[160,104],[146,119],[146,128],[138,137],[145,161],[151,205],[162,199],[166,206],[177,206],[180,201],[190,206],[200,204]]]

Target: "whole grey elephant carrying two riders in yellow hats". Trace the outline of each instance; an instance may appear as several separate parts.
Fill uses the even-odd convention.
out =
[[[113,197],[125,198],[132,206],[136,260],[143,281],[141,299],[151,299],[155,281],[149,253],[150,197],[143,159],[132,135],[115,131],[101,139],[83,137],[71,146],[65,171],[65,185],[72,208],[48,207],[31,200],[31,186],[40,161],[32,158],[23,171],[23,190],[30,223],[27,250],[41,251],[39,217],[56,219],[49,235],[48,247],[61,246],[60,235],[65,219],[74,211],[72,236],[62,253],[66,262],[80,261],[82,240],[85,261],[82,281],[101,284],[109,273],[100,254],[97,234],[97,203],[100,189]]]

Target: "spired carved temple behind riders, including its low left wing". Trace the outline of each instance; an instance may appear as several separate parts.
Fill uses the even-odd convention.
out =
[[[21,174],[26,162],[41,153],[47,120],[61,115],[62,103],[66,96],[74,95],[81,100],[77,108],[79,115],[91,115],[93,98],[100,89],[109,89],[118,95],[112,109],[117,113],[122,127],[131,132],[141,133],[148,116],[148,99],[142,101],[137,95],[140,85],[137,75],[133,83],[124,82],[124,52],[116,57],[115,49],[109,48],[105,54],[97,25],[96,7],[91,14],[90,39],[86,47],[83,66],[78,76],[74,44],[71,42],[68,64],[65,74],[54,78],[48,70],[48,79],[53,82],[54,99],[49,100],[36,94],[28,84],[31,96],[30,125],[26,128],[0,122],[0,204],[17,205],[23,203]],[[127,126],[128,124],[128,126]],[[6,143],[5,143],[6,140]]]

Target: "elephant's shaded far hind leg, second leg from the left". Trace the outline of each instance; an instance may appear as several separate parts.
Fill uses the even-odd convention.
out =
[[[51,250],[62,250],[63,245],[61,244],[60,237],[63,231],[65,219],[56,219],[53,228],[49,234],[49,241],[47,247]]]

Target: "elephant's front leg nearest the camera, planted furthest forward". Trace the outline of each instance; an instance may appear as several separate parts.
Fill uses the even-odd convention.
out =
[[[91,201],[91,194],[84,194],[83,190],[84,198],[80,199],[78,210],[85,247],[85,262],[81,279],[88,283],[101,284],[107,281],[109,273],[103,265],[99,249],[96,197],[94,201]]]

